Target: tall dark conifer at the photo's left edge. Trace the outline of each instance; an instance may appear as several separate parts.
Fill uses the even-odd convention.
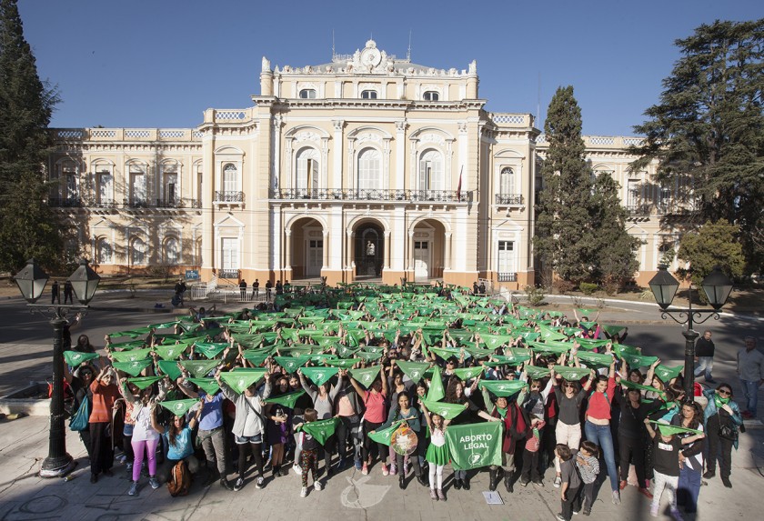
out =
[[[16,0],[0,0],[0,271],[32,256],[53,269],[62,262],[63,229],[45,202],[56,101],[37,75]]]

